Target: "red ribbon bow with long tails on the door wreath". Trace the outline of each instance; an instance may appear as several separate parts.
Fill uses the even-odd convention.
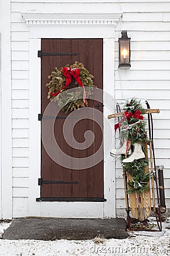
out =
[[[69,86],[70,82],[71,82],[71,76],[74,77],[75,81],[78,82],[78,84],[83,88],[83,101],[85,103],[86,100],[86,91],[84,89],[84,86],[82,84],[82,81],[80,80],[80,69],[79,68],[66,68],[63,67],[62,69],[62,73],[63,75],[66,77],[66,85],[61,88],[60,90],[58,90],[58,92],[56,93],[51,93],[52,96],[57,96],[59,93],[61,93],[61,90],[64,90],[67,88],[67,86]]]

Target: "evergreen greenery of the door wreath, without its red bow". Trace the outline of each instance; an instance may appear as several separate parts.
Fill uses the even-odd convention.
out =
[[[86,90],[86,97],[90,98],[92,94],[92,88],[96,87],[94,85],[94,76],[90,74],[90,72],[84,67],[83,63],[78,63],[75,61],[73,65],[66,64],[64,67],[71,67],[71,68],[79,68],[80,69],[80,80],[82,81],[82,84]],[[59,93],[57,96],[51,96],[52,93],[58,92],[58,90],[62,89],[65,84],[66,84],[66,77],[63,75],[62,68],[57,68],[55,67],[54,70],[52,71],[51,75],[48,76],[48,79],[50,81],[46,86],[49,88],[48,92],[48,98],[50,101],[56,101],[59,108],[62,108],[63,111],[68,112],[68,110],[75,110],[79,108],[83,108],[85,106],[88,106],[88,101],[87,99],[85,102],[83,101],[82,98],[82,92],[83,88],[78,89],[77,91],[74,92],[67,92],[65,93],[65,97],[62,96],[62,92],[66,91],[69,89],[69,86],[62,90],[61,93]],[[74,79],[74,78],[72,78]],[[78,85],[78,82],[75,81],[75,86]]]

